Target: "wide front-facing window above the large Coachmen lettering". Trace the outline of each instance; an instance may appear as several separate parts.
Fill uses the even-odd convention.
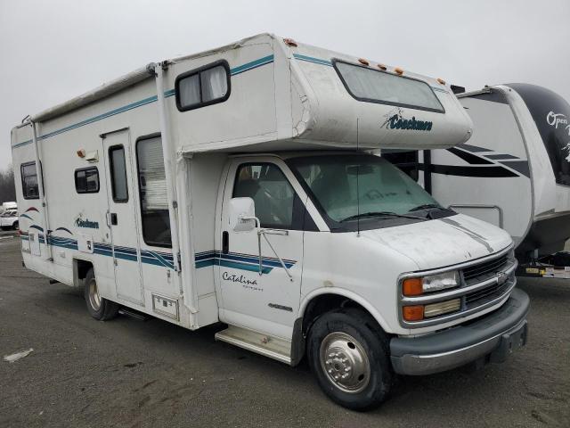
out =
[[[333,63],[346,90],[358,101],[444,112],[433,89],[424,81],[348,62]]]

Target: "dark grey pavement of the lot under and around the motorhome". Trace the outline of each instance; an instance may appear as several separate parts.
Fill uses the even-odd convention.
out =
[[[570,426],[570,281],[519,280],[529,342],[502,365],[402,377],[382,407],[326,399],[291,368],[158,319],[89,317],[82,292],[21,268],[0,240],[0,426]]]

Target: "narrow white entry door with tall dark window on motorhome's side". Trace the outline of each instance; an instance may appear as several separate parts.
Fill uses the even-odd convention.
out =
[[[142,304],[140,251],[128,129],[103,136],[115,286],[120,299]]]

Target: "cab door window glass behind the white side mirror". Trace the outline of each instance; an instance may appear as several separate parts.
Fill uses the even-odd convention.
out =
[[[249,197],[256,203],[262,227],[292,229],[295,191],[281,169],[272,163],[248,163],[238,168],[233,197]]]

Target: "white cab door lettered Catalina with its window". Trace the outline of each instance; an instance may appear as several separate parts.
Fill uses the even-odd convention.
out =
[[[284,171],[283,165],[272,161],[232,163],[224,190],[219,284],[225,322],[290,337],[300,299],[305,210],[300,209],[303,204]],[[232,197],[254,200],[256,217],[262,228],[270,229],[266,237],[285,268],[262,236],[259,274],[256,230],[234,232],[230,228],[228,207]]]

